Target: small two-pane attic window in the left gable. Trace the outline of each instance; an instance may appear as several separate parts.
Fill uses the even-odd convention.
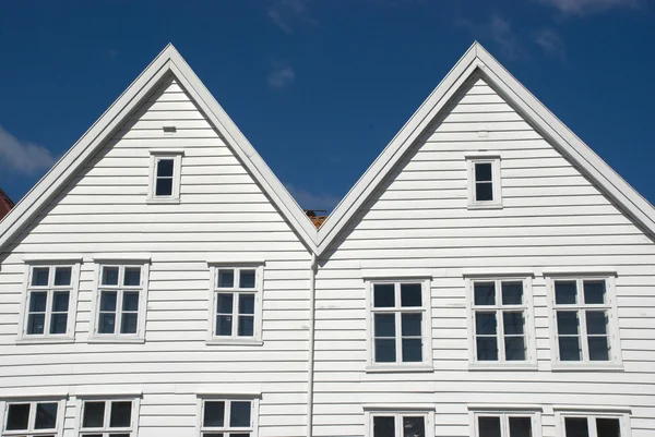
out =
[[[179,202],[182,168],[181,150],[151,151],[151,202]]]

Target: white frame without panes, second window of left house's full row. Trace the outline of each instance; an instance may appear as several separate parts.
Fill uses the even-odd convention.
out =
[[[90,319],[88,341],[90,342],[139,342],[145,341],[145,320],[147,315],[147,293],[150,283],[150,258],[148,259],[94,259],[94,290],[92,296],[93,308]],[[103,267],[118,267],[119,278],[118,286],[103,286]],[[126,267],[139,267],[141,268],[141,284],[140,287],[123,287],[122,278],[124,275]],[[121,300],[117,296],[116,313],[117,317],[115,320],[116,331],[114,333],[99,333],[99,311],[100,311],[100,292],[103,290],[116,290],[116,291],[139,291],[139,320],[136,325],[135,333],[120,333],[120,316],[122,312]],[[121,293],[119,293],[121,294]],[[122,295],[122,294],[121,294]]]

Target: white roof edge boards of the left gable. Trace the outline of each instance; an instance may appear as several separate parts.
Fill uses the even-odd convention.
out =
[[[271,198],[300,240],[310,251],[315,248],[314,226],[189,64],[169,44],[0,222],[0,252],[7,247],[12,236],[66,185],[84,162],[111,138],[130,113],[156,89],[159,81],[170,73],[219,132],[227,146],[260,184],[264,194]]]

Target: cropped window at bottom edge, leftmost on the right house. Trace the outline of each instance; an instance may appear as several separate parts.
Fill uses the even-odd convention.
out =
[[[427,412],[371,412],[369,437],[430,437],[432,427]]]

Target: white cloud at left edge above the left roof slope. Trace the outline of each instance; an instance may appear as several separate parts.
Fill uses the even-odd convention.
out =
[[[55,163],[44,146],[22,142],[0,126],[0,167],[15,173],[34,175]]]

